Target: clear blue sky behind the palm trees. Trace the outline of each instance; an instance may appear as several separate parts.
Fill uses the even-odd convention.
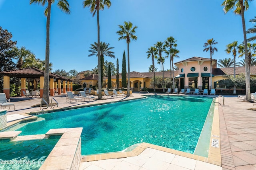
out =
[[[57,1],[57,0],[56,0]],[[50,21],[50,62],[53,70],[92,70],[97,66],[97,57],[88,57],[90,44],[97,41],[96,16],[89,8],[82,7],[83,0],[69,0],[71,14],[65,14],[52,4]],[[233,12],[224,14],[220,6],[223,0],[111,0],[110,8],[100,11],[100,40],[114,47],[119,70],[122,70],[122,55],[126,51],[126,41],[118,41],[116,31],[124,21],[131,21],[136,29],[137,41],[130,43],[130,71],[148,72],[152,64],[146,51],[157,41],[173,36],[177,40],[179,59],[191,57],[210,58],[203,52],[207,39],[214,38],[218,52],[213,59],[232,58],[224,51],[233,41],[242,43],[241,17]],[[246,29],[254,24],[248,20],[256,16],[256,2],[250,2],[245,13]],[[17,46],[31,50],[36,58],[45,59],[46,6],[29,4],[29,0],[0,0],[0,26],[12,33]],[[248,35],[250,37],[250,35]],[[165,54],[164,54],[165,55]],[[116,59],[105,60],[116,65]],[[240,61],[240,59],[237,59]],[[127,63],[127,62],[126,62]],[[158,71],[160,65],[156,64]],[[170,59],[166,59],[164,69],[170,69]]]

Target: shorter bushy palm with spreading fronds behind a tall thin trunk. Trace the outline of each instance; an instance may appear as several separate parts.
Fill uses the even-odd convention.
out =
[[[102,41],[100,41],[100,71],[101,71],[101,84],[103,82],[103,72],[104,72],[104,56],[108,56],[111,58],[115,59],[115,55],[113,51],[110,51],[111,49],[114,49],[114,47],[108,47],[109,43],[105,43]],[[94,42],[94,44],[91,44],[90,50],[89,52],[91,54],[89,54],[88,56],[94,56],[94,55],[98,55],[98,43]]]

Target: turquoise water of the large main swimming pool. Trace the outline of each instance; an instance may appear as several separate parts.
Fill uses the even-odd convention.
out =
[[[212,98],[157,95],[39,115],[45,121],[18,130],[31,135],[83,127],[82,155],[121,151],[142,142],[193,153],[211,103]]]

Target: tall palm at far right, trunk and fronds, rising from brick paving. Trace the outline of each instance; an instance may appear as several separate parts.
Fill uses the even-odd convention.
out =
[[[248,59],[248,51],[247,51],[247,39],[246,39],[246,28],[245,28],[245,21],[244,21],[244,11],[248,10],[249,4],[248,1],[253,0],[224,0],[221,6],[224,6],[223,10],[225,13],[235,8],[234,13],[241,15],[242,18],[242,27],[243,27],[243,34],[244,34],[244,55],[245,55],[245,86],[246,86],[246,100],[251,99],[251,90],[250,90],[250,66],[249,66],[249,59]]]

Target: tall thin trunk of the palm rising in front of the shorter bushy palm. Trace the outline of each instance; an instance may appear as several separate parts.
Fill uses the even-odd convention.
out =
[[[100,60],[100,19],[99,19],[99,11],[100,11],[100,0],[96,1],[97,5],[97,26],[98,26],[98,89],[99,89],[99,96],[98,99],[102,99],[101,93],[101,60]]]

